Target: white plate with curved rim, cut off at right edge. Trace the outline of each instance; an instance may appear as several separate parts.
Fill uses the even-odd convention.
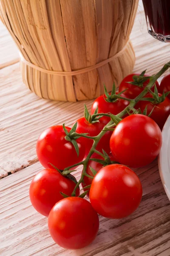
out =
[[[162,130],[162,147],[158,157],[159,173],[170,200],[170,116]]]

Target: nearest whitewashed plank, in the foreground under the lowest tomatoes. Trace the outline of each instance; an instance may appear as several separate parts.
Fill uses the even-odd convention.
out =
[[[29,184],[42,169],[35,163],[0,182],[0,255],[2,256],[170,256],[170,201],[157,160],[134,169],[142,182],[139,208],[122,220],[100,216],[99,234],[82,250],[64,250],[48,233],[47,218],[37,213],[28,197]],[[81,167],[75,177],[79,178]]]

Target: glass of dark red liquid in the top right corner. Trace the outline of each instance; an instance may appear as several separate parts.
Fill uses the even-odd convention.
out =
[[[170,42],[170,0],[142,0],[147,29],[154,38]]]

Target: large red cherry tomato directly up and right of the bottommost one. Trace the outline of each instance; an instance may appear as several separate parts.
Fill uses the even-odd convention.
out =
[[[106,218],[124,218],[133,213],[142,198],[139,177],[127,166],[111,164],[99,170],[90,189],[92,207]]]

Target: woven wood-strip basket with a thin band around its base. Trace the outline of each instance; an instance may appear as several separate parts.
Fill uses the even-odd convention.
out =
[[[138,0],[0,0],[24,83],[45,99],[94,99],[133,70]]]

